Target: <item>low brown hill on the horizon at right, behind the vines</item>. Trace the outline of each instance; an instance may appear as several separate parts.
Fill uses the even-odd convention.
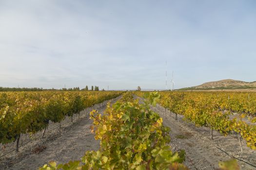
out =
[[[179,90],[210,90],[210,89],[245,89],[256,88],[256,81],[243,82],[239,80],[225,79],[214,82],[203,83],[193,87],[181,88]]]

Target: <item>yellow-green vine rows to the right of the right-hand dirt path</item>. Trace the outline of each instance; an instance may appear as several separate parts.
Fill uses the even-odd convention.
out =
[[[136,93],[143,96],[143,93]],[[227,136],[237,133],[247,146],[256,150],[256,93],[161,92],[162,107],[185,121]],[[243,151],[241,147],[241,152]]]

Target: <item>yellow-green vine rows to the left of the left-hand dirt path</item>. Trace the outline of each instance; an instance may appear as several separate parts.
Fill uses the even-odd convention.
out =
[[[0,143],[17,141],[21,134],[42,136],[50,121],[60,123],[65,117],[118,97],[122,92],[4,92],[0,93]]]

